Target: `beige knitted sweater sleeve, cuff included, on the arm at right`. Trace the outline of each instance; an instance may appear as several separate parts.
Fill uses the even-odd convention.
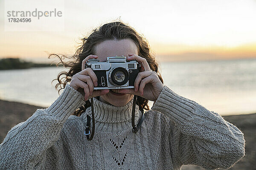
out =
[[[151,109],[173,122],[170,147],[177,167],[195,164],[207,170],[227,169],[245,155],[244,135],[236,126],[167,86]]]

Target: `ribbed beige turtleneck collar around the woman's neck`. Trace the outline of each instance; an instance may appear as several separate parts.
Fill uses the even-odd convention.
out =
[[[113,131],[122,130],[123,128],[131,127],[132,102],[133,102],[133,99],[131,99],[131,101],[128,102],[126,105],[117,107],[111,104],[104,103],[96,98],[93,98],[96,130],[113,132]],[[142,113],[139,110],[139,106],[136,105],[135,107],[135,123],[136,124],[141,114]],[[91,107],[87,108],[85,113],[83,113],[81,116],[86,119],[86,115],[89,115],[91,117]]]

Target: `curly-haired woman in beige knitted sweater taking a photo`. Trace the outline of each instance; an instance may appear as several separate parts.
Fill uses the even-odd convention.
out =
[[[134,89],[93,90],[97,77],[86,61],[111,56],[140,62]],[[58,99],[0,144],[0,169],[226,169],[244,156],[243,133],[163,85],[148,43],[130,26],[113,22],[93,30],[73,58],[63,62],[70,70],[58,75],[56,87],[64,85]]]

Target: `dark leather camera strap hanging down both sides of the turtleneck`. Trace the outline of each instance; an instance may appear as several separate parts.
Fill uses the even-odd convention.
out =
[[[140,126],[143,123],[144,117],[145,117],[145,112],[144,110],[142,111],[142,116],[140,118],[140,121],[138,125],[135,125],[135,107],[136,107],[136,100],[137,96],[134,95],[134,100],[132,102],[132,112],[131,112],[131,126],[132,126],[132,132],[137,133],[137,131],[140,129]],[[86,123],[86,128],[84,131],[84,135],[86,135],[86,138],[88,141],[91,141],[93,139],[93,135],[95,133],[95,119],[94,119],[94,109],[93,109],[93,98],[91,98],[91,111],[92,111],[92,122],[93,122],[93,128],[92,132],[90,132],[90,116],[87,115],[87,123]]]

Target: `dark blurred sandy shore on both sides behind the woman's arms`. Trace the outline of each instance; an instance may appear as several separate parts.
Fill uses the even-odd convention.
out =
[[[20,122],[26,121],[40,106],[0,100],[0,143],[8,131]],[[256,113],[247,115],[223,116],[244,133],[246,155],[229,170],[253,170],[256,167]],[[182,170],[204,170],[194,165],[186,165]]]

